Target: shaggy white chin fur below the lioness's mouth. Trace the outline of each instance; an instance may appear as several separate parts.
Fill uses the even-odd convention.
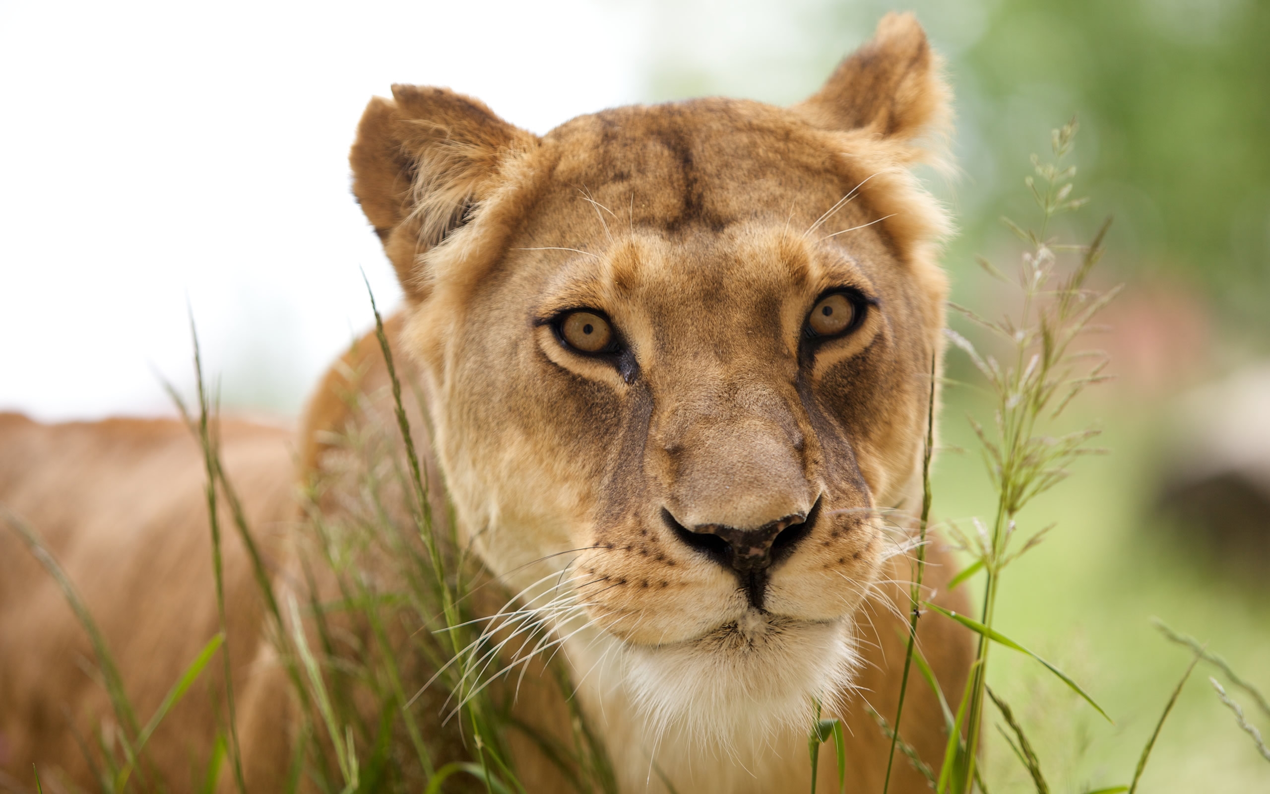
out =
[[[857,662],[850,621],[805,622],[751,610],[705,636],[625,649],[624,682],[665,752],[748,755],[781,733],[805,736],[815,700],[827,710]],[[652,750],[652,748],[650,748]]]

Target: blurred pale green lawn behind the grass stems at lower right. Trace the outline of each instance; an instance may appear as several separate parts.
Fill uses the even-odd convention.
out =
[[[950,353],[951,360],[958,356]],[[1166,640],[1152,617],[1206,643],[1255,685],[1270,689],[1270,588],[1248,577],[1227,578],[1179,548],[1153,508],[1160,438],[1167,429],[1163,410],[1118,395],[1114,386],[1100,396],[1105,399],[1091,400],[1064,424],[1102,427],[1100,442],[1110,454],[1078,461],[1071,480],[1022,512],[1021,530],[1055,521],[1058,526],[1044,548],[1024,556],[1003,581],[997,621],[1003,634],[1086,686],[1116,724],[1106,724],[1021,656],[1002,654],[989,673],[992,687],[1019,704],[1057,791],[1085,791],[1133,775],[1191,656]],[[987,419],[986,400],[965,386],[950,386],[944,451],[933,471],[933,513],[973,532],[970,517],[978,511],[984,520],[993,492],[968,413]],[[978,603],[982,574],[961,587]],[[1270,790],[1270,767],[1217,699],[1209,675],[1222,678],[1201,663],[1187,682],[1165,723],[1142,790]],[[1026,771],[994,728],[992,733],[987,783],[993,790],[1030,790]]]

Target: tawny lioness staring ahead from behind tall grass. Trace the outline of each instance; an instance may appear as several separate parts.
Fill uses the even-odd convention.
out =
[[[493,579],[532,593],[556,574],[583,616],[563,654],[624,791],[805,791],[817,701],[847,724],[848,790],[881,789],[889,741],[869,708],[894,714],[912,575],[883,512],[919,503],[946,290],[945,216],[908,168],[946,117],[909,15],[884,18],[789,108],[625,107],[542,137],[446,89],[394,86],[366,109],[353,191],[405,291],[389,337],[424,386],[425,465]],[[281,578],[292,457],[301,479],[330,468],[330,433],[386,413],[385,382],[367,338],[295,450],[226,424],[226,470]],[[174,422],[0,418],[0,501],[62,560],[142,714],[218,625],[202,466]],[[292,705],[245,555],[232,536],[225,548],[246,788],[281,790]],[[939,592],[946,556],[930,559]],[[919,638],[954,699],[969,639],[937,617]],[[10,786],[30,785],[32,762],[46,789],[94,785],[80,743],[105,695],[88,654],[56,586],[0,534]],[[151,739],[175,790],[212,743],[201,692]],[[565,730],[550,692],[527,676],[516,708]],[[937,771],[942,719],[916,671],[902,733]],[[561,790],[536,753],[516,744],[527,790]],[[826,790],[834,767],[820,765]],[[925,788],[898,760],[892,790]]]

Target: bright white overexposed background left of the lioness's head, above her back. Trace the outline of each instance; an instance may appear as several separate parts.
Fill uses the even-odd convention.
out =
[[[630,3],[0,1],[0,409],[171,413],[187,299],[229,404],[295,412],[400,291],[349,193],[391,83],[535,132],[639,99]]]

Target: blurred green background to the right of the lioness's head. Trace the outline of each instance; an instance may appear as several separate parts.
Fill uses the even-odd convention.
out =
[[[1017,654],[996,653],[989,681],[1022,713],[1057,791],[1126,784],[1189,663],[1149,617],[1208,643],[1270,691],[1270,559],[1228,559],[1205,542],[1209,528],[1179,523],[1158,504],[1185,434],[1182,395],[1255,366],[1270,340],[1270,3],[663,3],[649,99],[796,102],[892,9],[917,13],[955,93],[961,174],[927,174],[959,226],[945,257],[954,300],[994,316],[1011,305],[974,255],[1012,272],[1020,248],[998,216],[1036,217],[1022,184],[1029,156],[1048,159],[1050,130],[1073,116],[1074,194],[1090,203],[1062,234],[1086,241],[1115,217],[1096,279],[1125,291],[1096,344],[1113,354],[1118,380],[1081,398],[1063,423],[1101,427],[1110,455],[1080,461],[1024,512],[1024,531],[1059,525],[1006,572],[998,607],[998,628],[1087,685],[1115,725]],[[978,379],[959,351],[949,371]],[[935,512],[969,527],[972,516],[991,521],[994,498],[966,414],[991,423],[974,391],[949,390]],[[980,578],[964,587],[978,597]],[[1270,764],[1209,675],[1220,678],[1196,668],[1140,790],[1270,791]],[[1270,728],[1247,696],[1236,699]],[[1033,790],[996,729],[988,734],[993,790]]]

